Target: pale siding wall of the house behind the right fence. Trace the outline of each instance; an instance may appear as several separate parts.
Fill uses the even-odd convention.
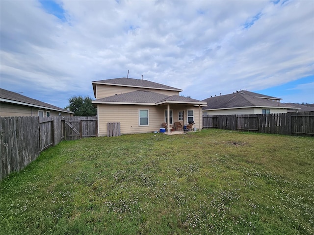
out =
[[[262,110],[263,109],[270,109],[270,113],[271,114],[287,113],[287,109],[242,108],[242,109],[226,109],[226,110],[203,111],[203,114],[204,115],[262,114]]]

